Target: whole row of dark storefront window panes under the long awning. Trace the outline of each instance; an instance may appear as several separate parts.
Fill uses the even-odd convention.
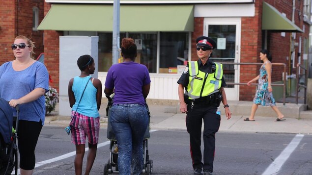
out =
[[[87,33],[70,31],[68,35],[98,35],[98,71],[107,72],[110,69],[113,58],[112,32]],[[136,62],[145,65],[149,73],[157,73],[157,32],[120,32],[119,37],[120,44],[124,37],[133,38],[138,48]],[[188,49],[188,32],[160,32],[159,73],[177,74],[178,67],[185,66],[188,61]]]

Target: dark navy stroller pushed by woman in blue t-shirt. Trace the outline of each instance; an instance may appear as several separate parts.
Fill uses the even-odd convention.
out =
[[[15,167],[17,175],[17,128],[19,106],[16,106],[16,130],[13,126],[12,107],[9,103],[0,98],[0,175],[11,175]],[[14,119],[15,120],[15,119]]]

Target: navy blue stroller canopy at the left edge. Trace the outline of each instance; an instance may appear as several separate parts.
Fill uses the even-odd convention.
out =
[[[0,98],[0,134],[5,144],[11,142],[13,111],[9,103]]]

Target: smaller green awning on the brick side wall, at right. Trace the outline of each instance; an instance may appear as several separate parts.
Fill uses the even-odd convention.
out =
[[[284,17],[275,7],[263,2],[262,7],[262,30],[273,32],[303,32],[300,27]]]

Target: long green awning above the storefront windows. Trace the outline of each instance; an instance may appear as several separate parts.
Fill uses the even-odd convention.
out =
[[[194,5],[120,5],[120,31],[193,31]],[[52,4],[38,30],[113,31],[113,5]]]

